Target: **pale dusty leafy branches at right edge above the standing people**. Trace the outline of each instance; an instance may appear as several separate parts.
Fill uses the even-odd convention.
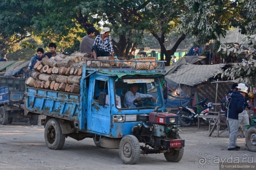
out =
[[[244,58],[241,63],[225,71],[221,70],[221,78],[227,77],[234,82],[242,82],[247,85],[256,83],[256,35],[248,35],[242,39],[240,45],[230,46],[221,44],[218,50],[226,56],[232,55]]]

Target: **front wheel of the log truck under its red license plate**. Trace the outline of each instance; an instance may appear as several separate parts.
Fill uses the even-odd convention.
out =
[[[176,137],[175,139],[181,139]],[[170,148],[168,152],[164,153],[164,157],[168,162],[179,162],[183,156],[184,147],[180,150],[175,150],[174,148]]]

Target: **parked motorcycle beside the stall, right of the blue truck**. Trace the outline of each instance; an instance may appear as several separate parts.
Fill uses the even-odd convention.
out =
[[[198,113],[200,113],[200,115],[207,115],[209,112],[209,108],[211,108],[211,106],[208,106],[208,104],[205,103],[207,99],[208,97],[195,105],[195,106],[199,105],[203,107],[203,109],[200,112],[197,112],[196,107],[178,106],[179,111],[177,114],[179,115],[179,124],[181,126],[188,127],[191,125],[192,122],[198,122],[198,116],[197,116]],[[200,118],[200,119],[203,119],[203,118]]]

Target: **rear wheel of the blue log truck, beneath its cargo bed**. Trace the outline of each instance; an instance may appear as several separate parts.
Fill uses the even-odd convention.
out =
[[[49,149],[62,149],[65,143],[65,135],[61,131],[58,119],[50,119],[47,121],[44,129],[44,140]]]

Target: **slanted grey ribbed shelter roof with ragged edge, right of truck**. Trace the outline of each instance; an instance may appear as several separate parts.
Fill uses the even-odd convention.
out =
[[[199,85],[213,77],[219,71],[219,69],[223,68],[225,65],[226,64],[187,64],[179,67],[176,72],[166,75],[166,77],[178,84],[190,86]]]

